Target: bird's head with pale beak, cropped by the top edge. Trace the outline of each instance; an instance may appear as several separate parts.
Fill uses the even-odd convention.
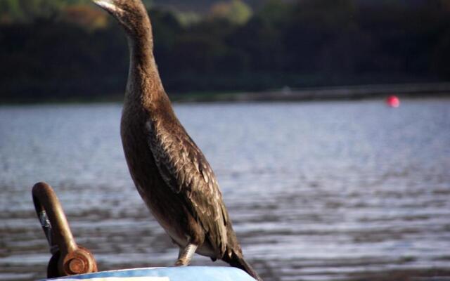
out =
[[[146,28],[148,14],[141,0],[92,0],[113,15],[130,35]]]

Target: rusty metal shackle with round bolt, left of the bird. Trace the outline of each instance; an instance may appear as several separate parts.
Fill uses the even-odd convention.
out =
[[[52,254],[47,277],[97,272],[94,255],[75,242],[63,207],[53,188],[47,183],[36,183],[32,195],[37,217]]]

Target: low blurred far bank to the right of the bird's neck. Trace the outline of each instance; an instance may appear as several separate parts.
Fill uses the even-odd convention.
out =
[[[450,97],[450,83],[438,84],[376,84],[283,89],[244,93],[186,93],[172,95],[176,102],[250,102],[250,101],[309,101],[361,100],[397,95],[408,98]]]

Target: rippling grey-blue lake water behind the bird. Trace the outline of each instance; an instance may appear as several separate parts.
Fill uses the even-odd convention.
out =
[[[450,269],[450,99],[175,105],[266,280]],[[0,280],[45,277],[31,188],[56,190],[101,270],[178,250],[128,174],[121,105],[0,107]],[[195,265],[212,263],[196,255]]]

